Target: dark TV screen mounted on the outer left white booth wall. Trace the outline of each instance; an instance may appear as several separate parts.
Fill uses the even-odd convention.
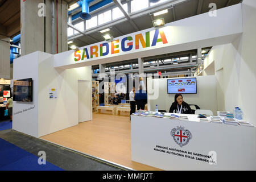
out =
[[[13,100],[32,102],[32,78],[13,81]]]

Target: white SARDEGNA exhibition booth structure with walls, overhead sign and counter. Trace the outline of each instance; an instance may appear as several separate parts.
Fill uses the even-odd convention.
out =
[[[184,94],[184,101],[214,115],[240,106],[244,119],[256,126],[255,84],[246,81],[255,82],[251,47],[256,39],[256,5],[246,2],[219,9],[217,16],[192,16],[79,51],[56,55],[38,51],[15,59],[14,80],[32,78],[33,100],[13,102],[13,129],[42,137],[92,120],[92,65],[210,46],[214,75],[188,77],[196,78],[197,90]],[[167,78],[147,78],[148,111],[155,111],[155,105],[169,111],[174,94],[168,93],[167,83]],[[195,115],[188,118],[132,115],[131,159],[166,170],[256,169],[255,127],[200,122]],[[187,132],[180,134],[187,137],[187,144],[175,142],[173,129]],[[217,155],[214,163],[203,160],[212,154]]]

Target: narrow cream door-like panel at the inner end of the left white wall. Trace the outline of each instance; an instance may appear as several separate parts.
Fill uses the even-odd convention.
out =
[[[92,120],[92,82],[78,81],[79,123]]]

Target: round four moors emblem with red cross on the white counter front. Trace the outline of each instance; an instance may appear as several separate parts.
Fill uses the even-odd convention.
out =
[[[177,126],[176,129],[171,130],[171,135],[174,141],[180,146],[185,146],[188,144],[189,140],[192,139],[192,134],[189,130],[185,130],[184,127]]]

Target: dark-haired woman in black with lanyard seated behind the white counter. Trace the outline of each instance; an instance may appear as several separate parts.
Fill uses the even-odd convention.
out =
[[[193,114],[191,108],[183,101],[183,97],[179,93],[175,94],[174,102],[170,107],[169,113]]]

